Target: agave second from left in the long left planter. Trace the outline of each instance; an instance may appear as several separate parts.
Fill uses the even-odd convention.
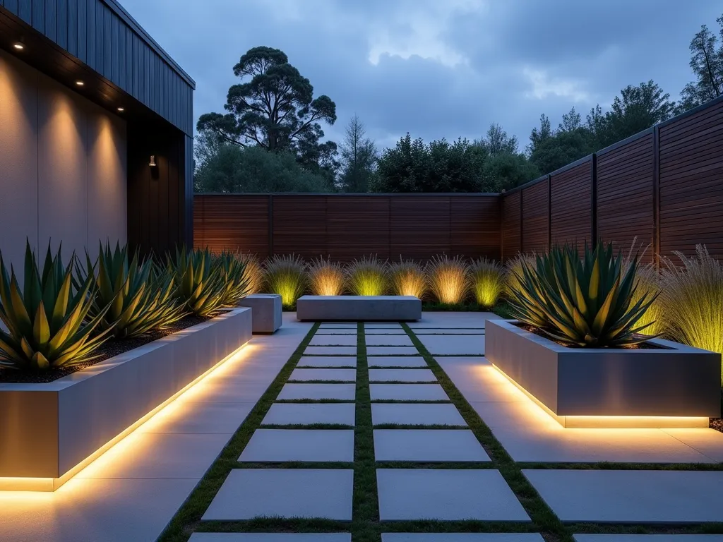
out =
[[[137,251],[129,261],[128,247],[116,243],[100,245],[94,265],[85,254],[85,270],[77,267],[77,283],[93,278],[95,296],[90,316],[109,307],[98,329],[112,329],[119,338],[137,337],[150,330],[163,329],[184,317],[175,298],[176,286],[166,270],[158,270],[152,259],[140,261]]]

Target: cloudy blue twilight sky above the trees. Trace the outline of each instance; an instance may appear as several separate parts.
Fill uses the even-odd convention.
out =
[[[521,150],[547,113],[606,108],[654,79],[673,99],[693,79],[688,45],[719,0],[121,0],[193,77],[194,115],[223,113],[232,67],[279,48],[336,103],[341,142],[358,114],[382,148],[411,132],[479,138],[492,122]]]

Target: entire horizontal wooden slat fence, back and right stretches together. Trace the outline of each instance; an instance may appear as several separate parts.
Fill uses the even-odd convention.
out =
[[[503,194],[199,194],[194,244],[348,262],[602,239],[723,259],[723,97]]]

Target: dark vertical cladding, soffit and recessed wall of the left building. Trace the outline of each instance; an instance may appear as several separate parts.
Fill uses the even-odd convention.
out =
[[[2,32],[25,39],[24,60],[41,71],[116,114],[124,106],[129,244],[145,253],[192,244],[188,74],[116,0],[0,0]]]

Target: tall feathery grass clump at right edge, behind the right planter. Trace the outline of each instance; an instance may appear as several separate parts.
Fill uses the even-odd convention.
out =
[[[723,353],[723,267],[703,245],[696,257],[674,252],[683,267],[664,260],[662,310],[667,335],[680,343]],[[723,374],[721,375],[723,381]]]

